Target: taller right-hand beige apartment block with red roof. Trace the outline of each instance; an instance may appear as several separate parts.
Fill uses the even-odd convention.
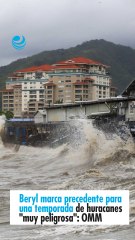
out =
[[[108,66],[77,57],[53,65],[45,86],[45,104],[75,103],[110,97]]]

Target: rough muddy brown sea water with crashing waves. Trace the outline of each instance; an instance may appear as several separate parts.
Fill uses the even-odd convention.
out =
[[[135,143],[105,136],[90,121],[74,121],[70,144],[55,148],[14,145],[0,140],[0,240],[134,240]],[[4,119],[0,119],[0,129]],[[130,190],[128,226],[10,226],[9,190]]]

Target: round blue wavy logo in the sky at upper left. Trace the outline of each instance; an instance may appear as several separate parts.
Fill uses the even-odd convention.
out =
[[[17,50],[22,50],[26,45],[24,36],[14,36],[12,38],[12,46]]]

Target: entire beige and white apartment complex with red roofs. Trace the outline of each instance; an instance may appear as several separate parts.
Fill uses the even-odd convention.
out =
[[[114,95],[114,88],[112,94]],[[2,91],[3,110],[33,115],[44,105],[98,100],[111,96],[108,66],[83,57],[13,73]],[[12,101],[11,101],[12,100]]]

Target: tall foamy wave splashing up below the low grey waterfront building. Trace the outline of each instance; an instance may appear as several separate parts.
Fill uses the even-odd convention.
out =
[[[81,134],[76,137],[76,142],[79,145],[76,148],[72,148],[70,145],[70,151],[68,156],[71,161],[78,164],[84,164],[89,162],[91,164],[98,163],[101,159],[109,158],[118,151],[128,151],[129,153],[135,153],[134,141],[130,137],[127,141],[124,141],[120,136],[114,134],[111,139],[107,139],[106,135],[94,128],[90,120],[76,121],[75,126],[79,129]]]

